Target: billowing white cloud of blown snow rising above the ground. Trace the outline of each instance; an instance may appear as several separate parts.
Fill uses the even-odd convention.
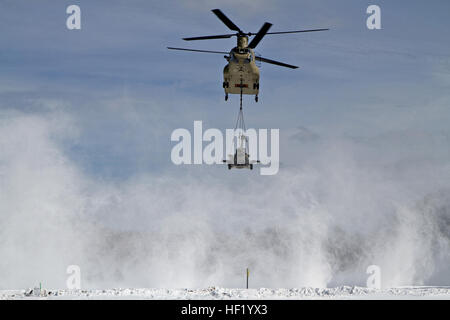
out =
[[[62,148],[75,123],[64,108],[0,113],[2,288],[63,288],[71,264],[91,288],[242,287],[246,267],[255,287],[365,285],[371,264],[385,287],[448,283],[445,179],[415,184],[314,135],[310,161],[269,179],[219,167],[105,181]]]

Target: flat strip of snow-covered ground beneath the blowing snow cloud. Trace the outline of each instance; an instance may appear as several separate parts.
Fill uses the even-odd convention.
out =
[[[0,299],[445,299],[450,287],[401,287],[375,290],[364,287],[298,289],[106,289],[1,290]]]

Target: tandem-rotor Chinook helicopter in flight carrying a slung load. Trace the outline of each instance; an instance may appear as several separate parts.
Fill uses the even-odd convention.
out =
[[[233,36],[237,37],[237,46],[231,49],[230,52],[225,51],[208,51],[208,50],[195,50],[185,48],[173,48],[168,47],[171,50],[183,50],[193,52],[206,52],[206,53],[219,53],[227,54],[225,59],[228,64],[223,70],[223,88],[225,90],[225,100],[228,100],[228,94],[240,94],[241,101],[243,94],[255,95],[255,101],[258,102],[259,93],[259,68],[255,61],[261,61],[265,63],[274,64],[281,67],[297,69],[297,66],[293,66],[287,63],[266,59],[255,55],[254,49],[266,34],[286,34],[286,33],[301,33],[301,32],[315,32],[325,31],[329,29],[310,29],[310,30],[297,30],[297,31],[278,31],[268,32],[272,24],[269,22],[264,23],[261,29],[257,33],[243,32],[237,25],[235,25],[225,14],[219,10],[214,9],[212,12],[232,31],[236,33],[183,38],[186,41],[192,40],[208,40],[208,39],[227,39]],[[250,43],[248,38],[254,36]]]

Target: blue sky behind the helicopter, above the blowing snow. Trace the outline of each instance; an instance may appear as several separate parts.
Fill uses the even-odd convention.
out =
[[[65,8],[72,3],[82,10],[80,31],[65,28]],[[105,169],[105,175],[136,173],[133,159],[144,156],[139,140],[157,136],[151,158],[158,160],[147,158],[151,165],[144,169],[158,170],[167,165],[170,149],[160,140],[173,129],[190,128],[199,119],[209,127],[234,123],[237,101],[223,101],[223,58],[165,49],[229,50],[234,39],[181,40],[228,32],[210,12],[220,7],[249,31],[258,30],[264,21],[272,22],[274,31],[331,28],[324,33],[267,36],[261,42],[258,51],[263,56],[301,69],[263,65],[261,103],[246,101],[248,125],[306,126],[323,134],[356,136],[412,127],[446,130],[448,113],[429,112],[429,104],[448,100],[449,4],[379,1],[383,30],[369,31],[365,9],[371,3],[256,1],[240,10],[237,1],[4,1],[1,102],[4,108],[28,111],[38,110],[32,104],[45,99],[68,105],[86,129],[86,141],[74,156],[84,153],[79,160],[95,172],[97,166],[106,166],[110,170]],[[116,109],[105,102],[120,99],[128,100]],[[137,112],[149,125],[134,127],[124,121],[129,112]],[[151,123],[158,123],[155,130]],[[128,138],[112,133],[117,130],[125,130]],[[119,149],[127,150],[126,155],[114,154],[113,145],[121,143],[124,148]],[[122,160],[101,163],[96,150]]]

